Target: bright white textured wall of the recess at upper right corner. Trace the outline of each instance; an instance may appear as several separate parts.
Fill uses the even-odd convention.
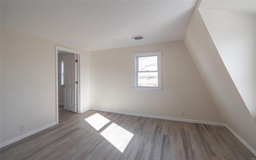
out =
[[[228,73],[256,122],[256,15],[216,10],[224,5],[246,7],[240,1],[223,2],[209,4],[202,1],[198,10]],[[256,6],[256,1],[242,3],[248,4],[249,8]],[[208,9],[209,6],[212,9]],[[216,9],[213,9],[214,6]]]

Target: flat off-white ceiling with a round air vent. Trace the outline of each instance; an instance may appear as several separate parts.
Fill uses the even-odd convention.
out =
[[[196,2],[1,0],[0,24],[88,51],[112,49],[183,40]]]

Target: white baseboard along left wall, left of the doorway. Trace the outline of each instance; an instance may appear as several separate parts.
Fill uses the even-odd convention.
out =
[[[26,133],[26,134],[24,134],[24,135],[21,135],[21,136],[19,136],[19,137],[16,137],[16,138],[14,138],[14,139],[11,139],[11,140],[8,140],[8,141],[6,141],[6,142],[3,142],[3,143],[0,144],[0,148],[2,148],[2,147],[4,147],[4,146],[7,146],[7,145],[9,145],[9,144],[12,144],[12,143],[14,143],[14,142],[17,142],[18,140],[24,139],[24,138],[26,138],[26,137],[28,137],[28,136],[34,135],[35,133],[38,133],[38,132],[40,132],[40,131],[42,131],[42,130],[44,130],[44,129],[47,129],[47,128],[49,128],[49,127],[52,127],[52,126],[54,126],[54,125],[56,125],[56,124],[57,124],[56,122],[51,123],[51,124],[49,124],[49,125],[46,125],[46,126],[44,126],[44,127],[41,127],[41,128],[36,129],[36,130],[34,130],[34,131],[31,131],[31,132],[29,132],[29,133]]]

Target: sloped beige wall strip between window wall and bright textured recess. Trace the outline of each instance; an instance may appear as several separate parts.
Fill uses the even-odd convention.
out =
[[[256,123],[232,81],[197,8],[184,42],[224,123],[255,154]]]

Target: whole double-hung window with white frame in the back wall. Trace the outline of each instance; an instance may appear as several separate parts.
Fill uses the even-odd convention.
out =
[[[135,88],[162,89],[161,52],[135,53]]]

